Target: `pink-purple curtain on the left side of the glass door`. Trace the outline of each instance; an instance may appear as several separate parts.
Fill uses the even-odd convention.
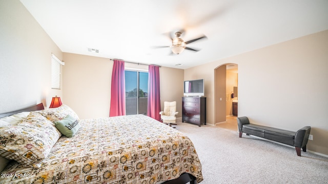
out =
[[[109,116],[125,115],[124,61],[114,60]]]

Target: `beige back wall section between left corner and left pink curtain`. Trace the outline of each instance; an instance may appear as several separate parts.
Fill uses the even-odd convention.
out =
[[[109,117],[113,61],[64,53],[63,99],[80,119]]]

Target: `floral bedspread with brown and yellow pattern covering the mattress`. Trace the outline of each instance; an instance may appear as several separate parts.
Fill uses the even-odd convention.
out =
[[[190,173],[203,180],[191,140],[144,115],[80,120],[61,136],[42,167],[11,162],[0,183],[157,183]]]

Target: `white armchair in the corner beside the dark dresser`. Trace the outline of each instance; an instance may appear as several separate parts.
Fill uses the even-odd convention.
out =
[[[176,125],[176,115],[179,112],[176,111],[176,101],[174,102],[164,102],[164,111],[160,111],[160,119],[163,123],[171,125]]]

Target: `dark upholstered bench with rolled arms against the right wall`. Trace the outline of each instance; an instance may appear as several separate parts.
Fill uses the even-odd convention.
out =
[[[238,130],[239,137],[242,133],[247,135],[255,135],[262,137],[264,139],[276,141],[290,146],[295,146],[296,153],[301,156],[301,148],[306,152],[306,144],[309,140],[309,135],[311,131],[310,126],[305,126],[298,131],[282,130],[278,128],[272,128],[267,126],[251,124],[247,117],[238,117]]]

